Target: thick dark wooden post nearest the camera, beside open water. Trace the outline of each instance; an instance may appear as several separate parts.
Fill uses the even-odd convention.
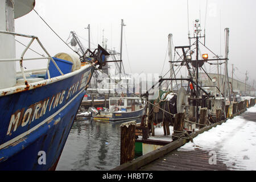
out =
[[[135,121],[125,122],[125,123],[122,123],[120,127],[121,127],[120,164],[123,164],[134,159],[136,122]]]

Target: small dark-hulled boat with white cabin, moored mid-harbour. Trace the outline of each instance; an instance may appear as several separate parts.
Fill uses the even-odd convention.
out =
[[[139,97],[110,97],[109,111],[94,113],[92,119],[105,122],[127,121],[141,118],[145,110],[145,104]]]

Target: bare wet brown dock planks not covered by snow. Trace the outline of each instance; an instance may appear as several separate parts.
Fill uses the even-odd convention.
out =
[[[241,116],[249,121],[256,122],[256,113],[242,113]],[[234,131],[234,134],[236,131]],[[209,164],[210,151],[218,151],[216,154],[216,164]],[[241,170],[244,166],[227,167],[224,164],[226,153],[220,148],[212,146],[207,150],[202,150],[200,147],[193,151],[174,150],[167,155],[160,157],[157,160],[138,168],[139,171],[226,171],[226,170]],[[236,159],[237,160],[237,159]]]

